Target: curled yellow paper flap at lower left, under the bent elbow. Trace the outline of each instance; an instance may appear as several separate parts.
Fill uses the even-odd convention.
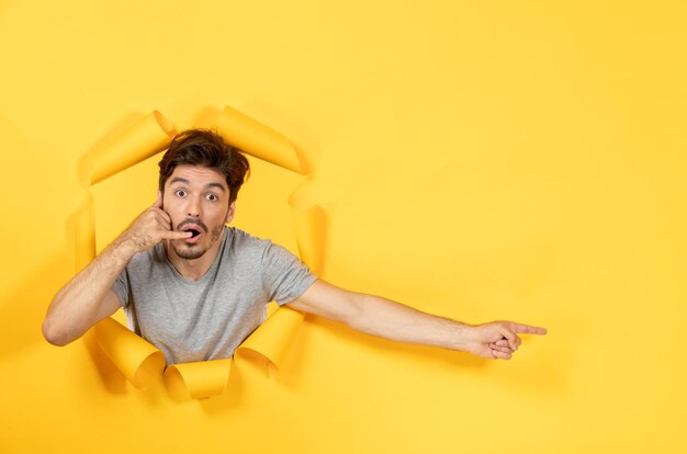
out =
[[[137,388],[144,388],[144,377],[160,375],[165,354],[111,317],[95,325],[98,344],[120,371]]]

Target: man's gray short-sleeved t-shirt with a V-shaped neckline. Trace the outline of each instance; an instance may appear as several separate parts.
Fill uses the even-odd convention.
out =
[[[183,279],[160,243],[134,256],[112,290],[129,329],[174,364],[230,357],[264,321],[269,302],[290,303],[316,279],[281,246],[226,228],[200,281]]]

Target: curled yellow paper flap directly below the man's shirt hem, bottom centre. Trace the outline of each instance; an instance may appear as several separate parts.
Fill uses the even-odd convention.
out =
[[[178,400],[204,399],[224,394],[234,360],[173,364],[165,371],[165,385]]]

